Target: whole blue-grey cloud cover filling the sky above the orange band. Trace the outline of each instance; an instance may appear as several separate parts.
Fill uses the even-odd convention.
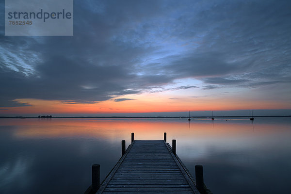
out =
[[[18,98],[91,104],[196,87],[166,87],[183,78],[203,81],[202,89],[288,84],[290,6],[287,0],[75,0],[72,37],[4,36],[2,19],[0,107],[26,106]],[[0,9],[3,18],[4,2]]]

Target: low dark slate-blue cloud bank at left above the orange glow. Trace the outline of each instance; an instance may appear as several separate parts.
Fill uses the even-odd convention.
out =
[[[133,77],[122,66],[83,66],[81,62],[58,56],[51,57],[34,70],[37,76],[29,77],[21,72],[1,71],[0,81],[7,83],[1,86],[6,91],[3,98],[12,96],[88,104],[110,99],[113,95],[137,93],[126,90],[124,82],[119,82]]]

